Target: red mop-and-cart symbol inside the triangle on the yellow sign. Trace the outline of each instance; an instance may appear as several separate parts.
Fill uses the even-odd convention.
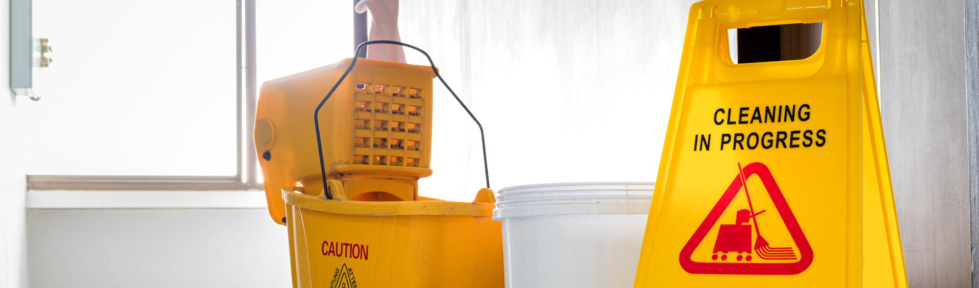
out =
[[[736,261],[751,261],[752,250],[763,260],[796,260],[795,251],[792,247],[770,247],[769,241],[766,241],[765,237],[762,236],[762,230],[758,224],[758,215],[765,213],[766,210],[755,213],[755,207],[751,203],[751,194],[748,192],[748,182],[744,176],[744,170],[741,169],[741,163],[737,164],[737,169],[738,179],[741,181],[741,185],[744,187],[744,195],[748,199],[748,209],[737,211],[733,225],[721,226],[720,231],[718,231],[718,239],[714,243],[714,255],[711,257],[711,260],[717,261],[720,258],[721,261],[726,261],[726,253],[737,252],[739,255]],[[746,225],[749,222],[752,225]],[[755,226],[755,234],[758,235],[755,239],[754,247],[751,245],[751,226]],[[742,253],[747,253],[748,255],[742,256],[740,255]]]

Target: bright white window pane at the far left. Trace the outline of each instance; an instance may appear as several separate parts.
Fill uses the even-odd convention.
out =
[[[34,0],[53,59],[22,99],[32,175],[233,176],[236,4]]]

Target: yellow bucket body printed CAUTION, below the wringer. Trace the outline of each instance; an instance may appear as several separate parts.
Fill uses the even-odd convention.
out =
[[[283,195],[292,212],[294,287],[503,287],[502,235],[491,202]]]

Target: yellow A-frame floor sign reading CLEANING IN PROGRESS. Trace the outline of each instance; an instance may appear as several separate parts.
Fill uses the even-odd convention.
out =
[[[727,29],[822,22],[735,64]],[[861,0],[690,8],[634,287],[908,287]]]

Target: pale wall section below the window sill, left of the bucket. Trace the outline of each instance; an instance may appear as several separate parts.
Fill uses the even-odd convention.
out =
[[[29,282],[47,287],[290,287],[264,209],[33,209]]]

